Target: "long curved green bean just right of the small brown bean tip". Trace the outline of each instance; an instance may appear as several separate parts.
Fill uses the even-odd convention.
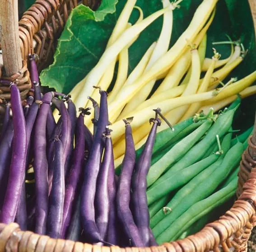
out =
[[[154,236],[158,237],[158,235],[162,234],[163,231],[166,230],[168,226],[170,226],[189,207],[213,193],[214,190],[219,186],[219,184],[223,180],[225,180],[230,170],[232,170],[239,164],[242,152],[242,143],[237,143],[232,148],[230,148],[219,167],[217,167],[215,171],[211,175],[209,175],[209,177],[205,181],[197,184],[196,188],[191,194],[186,194],[185,197],[183,195],[182,203],[179,204],[176,208],[172,207],[171,214],[167,215],[154,227]],[[195,178],[193,180],[196,181]]]

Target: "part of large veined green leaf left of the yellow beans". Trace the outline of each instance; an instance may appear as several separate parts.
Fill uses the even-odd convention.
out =
[[[58,41],[54,63],[40,75],[42,85],[69,92],[98,62],[112,29],[99,24],[107,13],[115,12],[117,0],[107,2],[107,9],[100,7],[96,12],[82,4],[73,9]]]

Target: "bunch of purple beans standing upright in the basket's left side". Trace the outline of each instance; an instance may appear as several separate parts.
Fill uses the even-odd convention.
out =
[[[93,99],[93,134],[84,125],[91,108],[75,108],[70,96],[41,93],[35,55],[29,56],[33,97],[22,106],[10,83],[0,139],[0,222],[17,222],[51,238],[99,245],[157,245],[149,228],[146,175],[149,171],[158,110],[140,157],[130,122],[120,176],[115,175],[107,92]],[[87,99],[87,98],[85,98]],[[52,109],[57,108],[56,122]],[[32,172],[31,172],[32,171]],[[28,183],[30,181],[30,183]],[[32,181],[32,182],[31,182]]]

